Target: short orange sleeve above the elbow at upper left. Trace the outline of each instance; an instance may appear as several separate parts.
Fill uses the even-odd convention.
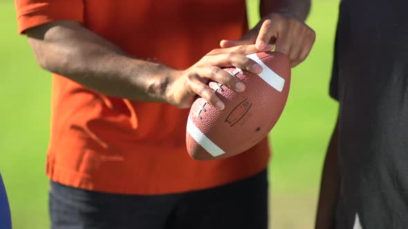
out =
[[[83,0],[15,0],[18,32],[59,20],[84,22]]]

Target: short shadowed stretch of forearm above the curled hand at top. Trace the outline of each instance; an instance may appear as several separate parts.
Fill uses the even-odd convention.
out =
[[[310,0],[261,0],[261,17],[271,12],[284,12],[305,21],[310,10]]]

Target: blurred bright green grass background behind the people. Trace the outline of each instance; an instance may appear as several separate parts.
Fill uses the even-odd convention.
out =
[[[314,0],[308,24],[317,33],[308,59],[293,69],[286,109],[272,130],[270,163],[273,228],[313,228],[320,173],[337,103],[328,97],[339,0]],[[258,1],[248,0],[250,24]],[[0,171],[13,226],[48,227],[44,161],[50,118],[50,74],[41,70],[17,34],[13,1],[0,1]]]

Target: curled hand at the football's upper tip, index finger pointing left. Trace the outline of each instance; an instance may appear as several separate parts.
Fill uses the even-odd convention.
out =
[[[291,14],[272,12],[237,41],[223,40],[221,48],[255,44],[259,50],[275,44],[275,50],[287,54],[295,67],[308,56],[315,42],[315,31]]]

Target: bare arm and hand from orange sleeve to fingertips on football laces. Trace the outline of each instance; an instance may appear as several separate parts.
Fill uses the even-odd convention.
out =
[[[207,86],[210,79],[237,92],[245,90],[239,79],[221,67],[235,66],[255,74],[262,71],[259,64],[245,57],[258,51],[254,45],[215,49],[190,68],[174,70],[131,57],[77,21],[46,23],[26,30],[26,34],[41,68],[102,94],[178,108],[189,108],[198,94],[222,110],[223,103]]]

